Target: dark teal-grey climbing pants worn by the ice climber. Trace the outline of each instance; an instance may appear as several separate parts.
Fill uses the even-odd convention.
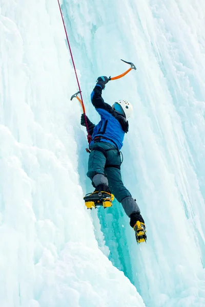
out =
[[[95,150],[97,147],[105,152]],[[121,163],[116,147],[108,142],[97,142],[91,145],[90,149],[92,151],[89,156],[87,176],[92,180],[93,185],[96,187],[98,184],[107,184],[128,216],[133,212],[140,213],[137,203],[122,183],[120,169],[115,167],[120,166]]]

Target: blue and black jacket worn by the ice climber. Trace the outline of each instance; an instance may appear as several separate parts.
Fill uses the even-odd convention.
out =
[[[92,134],[90,145],[94,143],[94,138],[102,137],[101,141],[112,143],[120,150],[125,133],[128,132],[128,121],[124,116],[114,111],[111,105],[105,103],[101,97],[102,90],[102,87],[96,84],[91,94],[92,104],[99,113],[101,120],[96,126],[93,125],[94,128],[92,127],[90,131],[90,134]]]

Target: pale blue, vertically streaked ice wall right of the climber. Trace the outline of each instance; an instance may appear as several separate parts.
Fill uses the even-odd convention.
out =
[[[135,107],[122,173],[145,217],[148,243],[135,245],[128,218],[116,203],[98,213],[109,258],[147,306],[202,307],[205,4],[72,1],[63,9],[87,101],[91,80],[127,68],[120,58],[137,67],[109,82],[104,98],[110,104],[125,98]],[[87,108],[97,122],[92,106]],[[98,242],[103,247],[100,232]]]

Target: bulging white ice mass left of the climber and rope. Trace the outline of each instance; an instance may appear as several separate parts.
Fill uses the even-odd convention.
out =
[[[83,203],[87,144],[57,1],[2,0],[0,48],[1,307],[145,306]]]

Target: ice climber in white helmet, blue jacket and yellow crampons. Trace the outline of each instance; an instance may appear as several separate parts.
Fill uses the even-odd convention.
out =
[[[95,191],[84,199],[87,203],[101,199],[111,202],[114,194],[130,217],[130,226],[134,228],[137,242],[140,243],[146,240],[145,222],[136,201],[122,183],[120,172],[119,150],[125,133],[128,133],[128,118],[133,107],[127,100],[119,100],[112,106],[104,102],[101,94],[108,81],[106,76],[98,77],[91,94],[92,104],[101,118],[100,122],[94,125],[86,117],[89,133],[92,135],[87,176],[92,180]],[[81,116],[81,125],[86,125],[84,114]]]

